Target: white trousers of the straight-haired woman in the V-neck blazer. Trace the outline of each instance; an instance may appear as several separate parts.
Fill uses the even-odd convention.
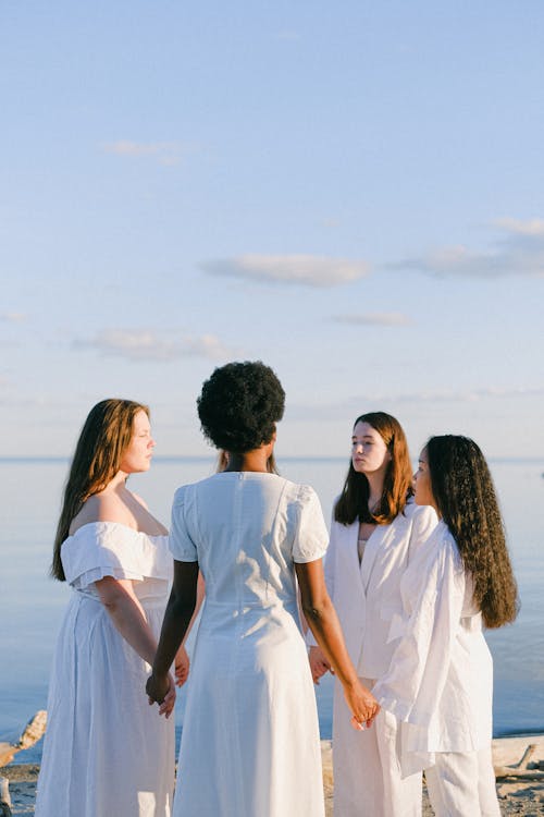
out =
[[[361,681],[369,688],[374,683]],[[333,704],[334,817],[421,817],[421,775],[400,777],[396,719],[382,710],[364,732],[357,732],[350,720],[342,684],[336,681]]]

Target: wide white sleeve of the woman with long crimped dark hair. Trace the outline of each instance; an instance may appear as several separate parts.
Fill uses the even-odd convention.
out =
[[[409,618],[372,693],[398,720],[426,727],[447,680],[465,598],[465,571],[450,536],[423,546],[405,573],[403,595]]]

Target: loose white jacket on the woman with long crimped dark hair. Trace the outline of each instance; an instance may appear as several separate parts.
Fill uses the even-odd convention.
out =
[[[490,745],[493,662],[471,577],[444,522],[400,590],[403,613],[390,633],[393,661],[373,692],[401,721],[401,766],[412,773],[432,766],[435,752]]]

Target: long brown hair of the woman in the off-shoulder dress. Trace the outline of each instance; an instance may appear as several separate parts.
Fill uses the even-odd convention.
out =
[[[89,412],[82,428],[64,487],[62,510],[54,537],[51,575],[65,581],[61,545],[70,525],[94,493],[99,493],[118,473],[133,436],[134,417],[149,408],[132,400],[102,400]]]

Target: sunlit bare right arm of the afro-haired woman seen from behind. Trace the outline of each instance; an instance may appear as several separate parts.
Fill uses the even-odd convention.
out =
[[[356,729],[370,722],[380,707],[374,696],[360,683],[349,658],[342,627],[325,586],[323,561],[295,564],[302,610],[316,641],[344,687],[344,695],[353,712]]]

